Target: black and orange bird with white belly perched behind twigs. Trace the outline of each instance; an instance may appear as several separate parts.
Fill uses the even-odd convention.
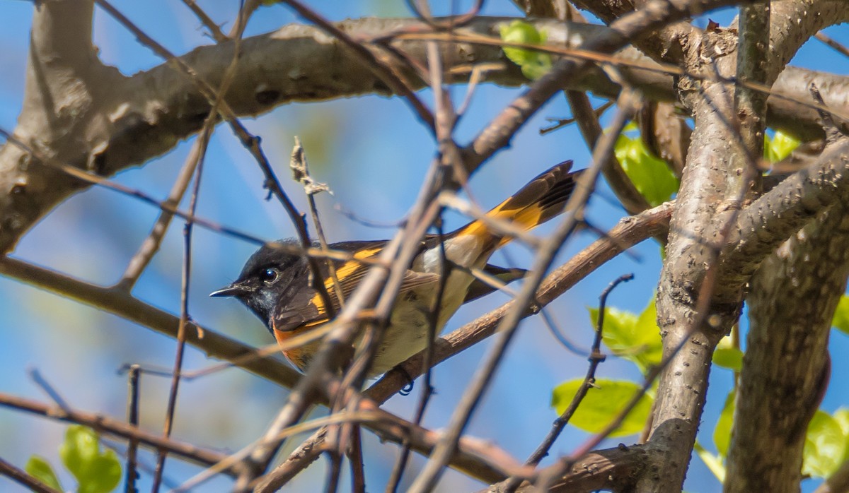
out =
[[[565,203],[575,189],[575,180],[581,171],[570,172],[571,161],[559,163],[534,178],[526,186],[486,213],[490,219],[509,221],[521,230],[542,224],[563,212]],[[492,223],[492,221],[491,221]],[[464,302],[495,290],[491,285],[475,278],[472,269],[480,269],[498,277],[503,282],[520,278],[522,269],[503,269],[490,265],[487,260],[500,246],[511,240],[509,235],[496,232],[478,219],[459,230],[441,236],[427,235],[413,264],[404,275],[398,292],[390,324],[374,355],[369,376],[383,374],[398,363],[427,346],[430,313],[436,309],[440,290],[440,276],[448,273],[442,287],[442,302],[436,321],[438,335],[448,319]],[[332,250],[351,252],[351,259],[334,260],[336,278],[346,299],[360,280],[368,273],[368,263],[363,259],[376,257],[387,241],[342,241],[329,245]],[[294,240],[279,243],[295,245]],[[444,250],[447,269],[442,269]],[[330,278],[327,263],[318,263],[322,269],[324,285],[338,312],[334,281]],[[250,308],[267,326],[278,343],[313,330],[329,322],[323,297],[309,283],[310,269],[305,256],[285,252],[274,246],[262,246],[245,263],[239,279],[210,296],[235,296]],[[311,341],[302,346],[284,350],[284,355],[302,372],[306,371],[321,341]]]

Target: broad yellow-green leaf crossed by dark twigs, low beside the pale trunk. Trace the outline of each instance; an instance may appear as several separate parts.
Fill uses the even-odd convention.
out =
[[[554,387],[551,395],[551,406],[558,414],[563,414],[566,407],[581,387],[583,379],[574,379]],[[569,424],[589,433],[599,433],[633,398],[641,387],[633,382],[621,380],[598,379],[595,387],[590,388],[584,396],[581,405],[569,420]],[[651,412],[652,398],[641,396],[637,405],[628,413],[619,428],[610,436],[634,435],[643,430],[645,421]]]

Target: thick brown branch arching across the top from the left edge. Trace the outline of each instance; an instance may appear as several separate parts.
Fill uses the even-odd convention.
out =
[[[42,9],[47,9],[46,12],[37,14],[34,20],[35,25],[43,23],[46,27],[33,31],[34,47],[39,46],[37,33],[48,30],[51,25],[49,12],[63,8],[66,2],[44,4]],[[90,2],[84,4],[90,7]],[[82,24],[76,25],[76,30],[90,32],[90,18],[85,20],[82,16],[85,11],[86,8],[78,9],[73,15],[63,17],[63,25],[70,26],[69,19],[80,19]],[[505,20],[476,19],[464,29],[498,36],[498,25]],[[548,31],[551,42],[563,44],[568,37],[572,46],[610,31],[598,25],[550,20],[535,22]],[[417,25],[421,26],[413,19],[357,19],[339,24],[340,29],[358,37]],[[78,44],[69,43],[69,46]],[[425,45],[426,42],[413,40],[393,43],[421,63],[426,59]],[[464,64],[465,70],[462,66],[454,67],[454,80],[463,80],[474,64],[499,62],[504,64],[504,69],[487,72],[486,80],[504,86],[520,86],[527,82],[517,67],[506,62],[499,47],[470,43],[440,43],[440,47],[444,50],[442,59],[462,60]],[[266,35],[250,37],[242,42],[242,51],[244,56],[239,60],[233,88],[227,98],[238,115],[261,114],[286,102],[388,93],[356,57],[314,27],[289,25]],[[15,135],[49,157],[61,158],[64,163],[98,174],[114,174],[171,149],[176,141],[199,130],[209,113],[209,102],[191,81],[166,64],[125,78],[114,68],[99,64],[93,47],[89,46],[70,57],[78,59],[81,54],[88,53],[86,69],[57,74],[54,67],[64,58],[54,56],[48,58],[51,64],[44,64],[38,53],[34,49],[31,54],[24,111]],[[647,61],[633,49],[619,56],[640,63]],[[216,86],[228,60],[233,58],[233,42],[200,47],[181,58]],[[335,63],[322,62],[329,59]],[[638,88],[646,97],[664,101],[676,98],[672,76],[638,69],[623,69],[622,74],[629,85]],[[410,80],[419,87],[424,86],[424,82],[414,76]],[[812,81],[818,87],[829,88],[823,92],[831,108],[849,112],[849,91],[846,90],[849,80],[845,77],[796,69],[782,74],[774,90],[803,101],[807,100],[807,84]],[[619,86],[597,68],[561,82],[566,87],[592,90],[605,97],[616,97],[619,91]],[[53,101],[53,94],[73,97]],[[769,99],[768,118],[770,125],[797,135],[816,136],[821,132],[815,111],[784,99]],[[37,219],[84,186],[78,180],[38,165],[20,149],[8,143],[4,145],[0,149],[0,211],[3,211],[0,213],[3,225],[0,251],[11,249]]]

